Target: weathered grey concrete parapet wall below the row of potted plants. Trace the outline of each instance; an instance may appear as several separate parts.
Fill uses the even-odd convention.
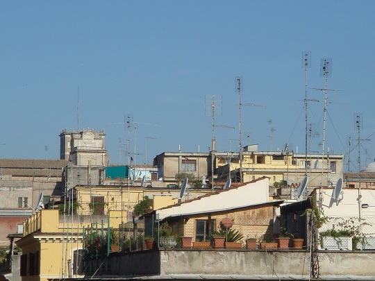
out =
[[[374,253],[320,252],[319,261],[322,278],[375,276]],[[94,264],[98,263],[92,263],[90,271],[96,271]],[[252,275],[307,280],[309,267],[310,254],[305,251],[153,250],[111,253],[107,268],[96,275]]]

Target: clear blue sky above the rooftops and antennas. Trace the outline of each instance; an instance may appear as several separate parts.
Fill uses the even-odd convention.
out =
[[[1,1],[0,156],[58,159],[60,130],[79,126],[104,130],[110,162],[125,163],[128,115],[137,162],[179,146],[208,152],[210,95],[222,97],[215,124],[235,127],[215,128],[217,151],[236,151],[236,76],[242,103],[263,105],[242,107],[242,144],[303,153],[310,51],[308,87],[324,87],[320,60],[332,58],[328,88],[341,90],[328,92],[325,150],[347,155],[351,136],[356,170],[360,113],[360,138],[371,139],[363,168],[375,157],[374,10],[374,1]],[[320,101],[308,123],[321,151],[324,94],[308,98]]]

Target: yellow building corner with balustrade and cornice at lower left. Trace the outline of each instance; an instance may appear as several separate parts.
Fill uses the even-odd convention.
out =
[[[79,277],[85,221],[68,225],[67,220],[64,223],[60,219],[58,210],[42,210],[24,222],[24,237],[16,242],[22,248],[23,281]]]

